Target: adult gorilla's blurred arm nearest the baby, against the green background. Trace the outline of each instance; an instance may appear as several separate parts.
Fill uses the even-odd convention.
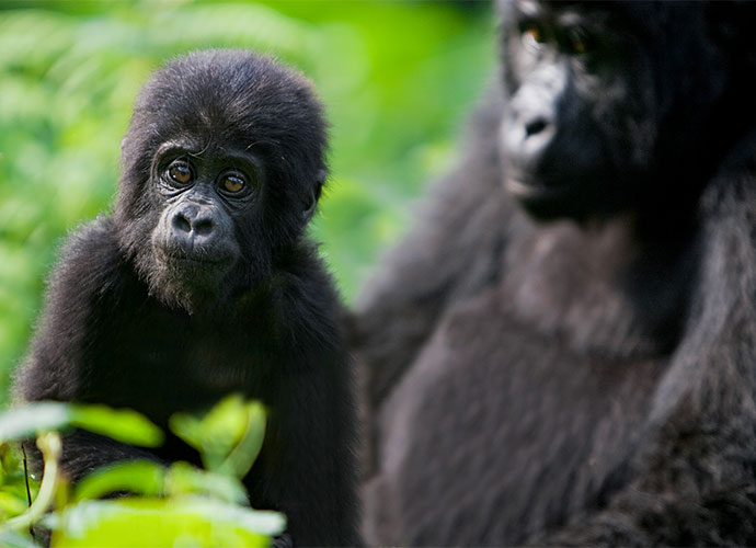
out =
[[[443,311],[499,276],[511,207],[497,186],[501,102],[495,87],[470,124],[461,161],[433,186],[412,232],[357,299],[351,342],[359,362],[370,365],[374,404],[391,391]]]

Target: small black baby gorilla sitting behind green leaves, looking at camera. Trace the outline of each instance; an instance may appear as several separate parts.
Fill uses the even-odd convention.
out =
[[[232,391],[262,400],[251,504],[284,512],[296,545],[350,546],[350,363],[305,237],[327,174],[321,111],[306,80],[250,53],[195,53],[154,75],[123,142],[115,214],[69,239],[15,388],[162,426]],[[79,431],[62,464],[77,481],[137,457],[197,460],[175,437],[146,453]]]

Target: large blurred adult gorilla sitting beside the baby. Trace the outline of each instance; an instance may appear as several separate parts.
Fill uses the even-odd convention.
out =
[[[383,545],[756,544],[756,7],[501,7],[358,300]]]

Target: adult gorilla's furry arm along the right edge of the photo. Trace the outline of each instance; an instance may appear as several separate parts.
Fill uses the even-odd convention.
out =
[[[655,443],[608,507],[548,546],[747,545],[756,534],[756,137],[703,199],[698,295],[646,425]],[[746,163],[744,165],[744,163]]]

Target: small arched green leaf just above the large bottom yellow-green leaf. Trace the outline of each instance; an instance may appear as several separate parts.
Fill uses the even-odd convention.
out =
[[[73,501],[100,499],[117,491],[160,495],[165,483],[165,468],[151,460],[124,460],[96,469],[77,486]]]

